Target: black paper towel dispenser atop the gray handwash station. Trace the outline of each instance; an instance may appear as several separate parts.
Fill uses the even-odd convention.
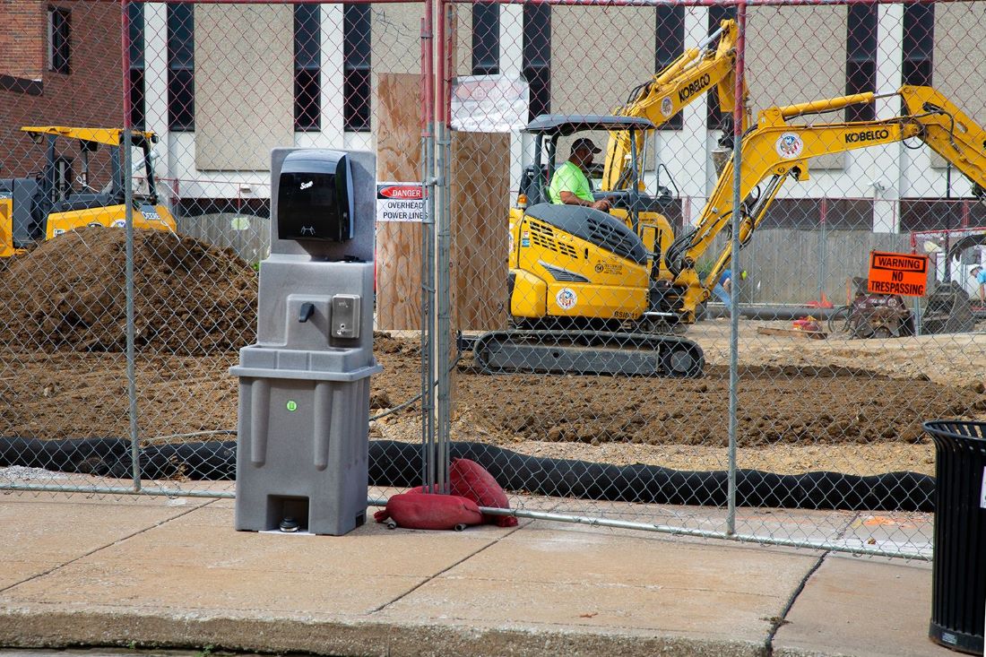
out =
[[[353,239],[353,180],[345,153],[299,150],[281,166],[277,193],[281,240]]]

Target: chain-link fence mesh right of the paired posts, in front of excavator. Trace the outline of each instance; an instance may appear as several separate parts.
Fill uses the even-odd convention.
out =
[[[470,144],[453,156],[455,328],[477,335],[453,439],[527,455],[519,487],[595,498],[561,513],[919,553],[920,422],[983,405],[986,111],[964,26],[984,5],[775,4],[740,25],[726,5],[457,5],[453,127],[491,134],[453,137]],[[504,215],[506,240],[488,232]],[[931,254],[928,294],[868,290],[874,251]],[[731,439],[738,507],[846,513],[730,507]],[[596,465],[545,481],[548,458]],[[642,501],[704,506],[627,504]]]

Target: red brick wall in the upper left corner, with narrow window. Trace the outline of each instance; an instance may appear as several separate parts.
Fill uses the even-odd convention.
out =
[[[44,70],[47,38],[47,8],[71,12],[68,75]],[[13,19],[19,29],[8,30]],[[73,127],[120,127],[123,124],[123,81],[120,70],[120,6],[112,2],[86,0],[0,0],[0,52],[4,52],[0,75],[13,76],[21,64],[19,54],[7,66],[8,44],[27,62],[36,56],[36,78],[40,84],[30,93],[0,88],[0,178],[16,178],[36,172],[43,162],[43,149],[20,128],[23,125],[67,125]],[[18,39],[15,41],[15,39]],[[21,44],[24,47],[21,47]],[[25,73],[27,74],[27,73]],[[22,76],[14,76],[21,78]],[[29,78],[30,79],[30,78]],[[39,94],[36,92],[39,91]],[[103,155],[101,153],[100,155]],[[96,158],[94,165],[103,160]],[[78,171],[78,167],[77,167]]]

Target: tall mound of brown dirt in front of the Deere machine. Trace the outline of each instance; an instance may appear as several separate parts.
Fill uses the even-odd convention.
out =
[[[134,325],[142,350],[204,355],[256,331],[256,273],[232,250],[162,231],[134,235]],[[53,351],[126,348],[126,233],[84,228],[0,272],[0,339]]]

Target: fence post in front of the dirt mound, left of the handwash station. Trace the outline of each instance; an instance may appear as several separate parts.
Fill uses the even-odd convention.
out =
[[[126,220],[126,392],[130,402],[130,461],[133,489],[141,489],[140,441],[137,427],[137,367],[134,354],[133,321],[133,146],[130,125],[130,12],[129,2],[120,0],[120,46],[123,68],[123,130],[120,133],[120,160],[123,169],[123,207]]]

